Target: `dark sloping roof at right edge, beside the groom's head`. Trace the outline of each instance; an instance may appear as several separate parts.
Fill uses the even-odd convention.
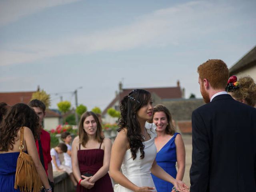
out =
[[[230,69],[230,75],[240,72],[242,69],[256,65],[256,46],[250,50],[245,56],[243,56],[236,64]]]

